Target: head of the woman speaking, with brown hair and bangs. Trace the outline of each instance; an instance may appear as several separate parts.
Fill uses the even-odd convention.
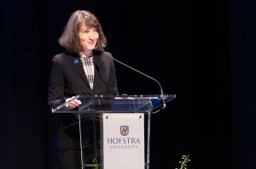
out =
[[[67,21],[59,43],[67,51],[79,54],[84,50],[105,48],[107,38],[94,14],[87,10],[77,10]]]

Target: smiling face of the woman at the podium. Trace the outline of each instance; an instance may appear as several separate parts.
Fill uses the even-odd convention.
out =
[[[98,38],[99,33],[96,31],[96,28],[88,28],[84,24],[80,26],[79,39],[85,52],[90,52],[96,47]]]

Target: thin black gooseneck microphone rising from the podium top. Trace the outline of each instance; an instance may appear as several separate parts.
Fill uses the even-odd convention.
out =
[[[110,55],[108,52],[106,52],[106,53],[104,53],[104,54],[106,54],[106,55],[108,56],[108,58],[113,59],[114,61],[116,61],[116,62],[119,63],[120,65],[125,65],[125,67],[128,67],[129,69],[134,70],[134,71],[136,71],[137,73],[139,73],[139,74],[141,74],[141,75],[143,75],[143,76],[146,76],[146,77],[148,77],[149,79],[151,79],[151,80],[153,80],[154,82],[156,82],[156,83],[158,84],[158,86],[160,87],[160,102],[161,102],[161,104],[162,104],[161,109],[164,110],[164,109],[166,108],[166,100],[165,100],[164,92],[163,92],[163,89],[162,89],[162,87],[161,87],[161,85],[160,85],[160,82],[159,82],[158,80],[156,80],[156,79],[155,79],[154,77],[152,77],[152,76],[148,76],[147,74],[143,73],[143,72],[140,71],[140,70],[137,70],[137,69],[131,67],[130,65],[126,65],[125,63],[119,61],[118,59],[114,59],[113,56]]]

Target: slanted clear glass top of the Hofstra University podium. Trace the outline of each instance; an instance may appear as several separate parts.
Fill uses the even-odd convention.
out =
[[[101,96],[76,96],[73,99],[79,99],[82,104],[78,109],[69,110],[67,103],[61,104],[54,109],[53,113],[146,113],[152,112],[161,107],[163,102],[175,99],[176,95],[101,95]],[[69,100],[72,101],[73,99]]]

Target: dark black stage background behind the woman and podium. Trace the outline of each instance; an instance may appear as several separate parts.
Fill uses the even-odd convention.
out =
[[[255,4],[1,1],[1,169],[55,169],[57,115],[47,112],[50,60],[70,14],[89,9],[116,59],[177,94],[153,115],[150,168],[252,168],[255,163]],[[158,94],[146,77],[116,64],[119,93]],[[131,76],[133,78],[131,78]]]

